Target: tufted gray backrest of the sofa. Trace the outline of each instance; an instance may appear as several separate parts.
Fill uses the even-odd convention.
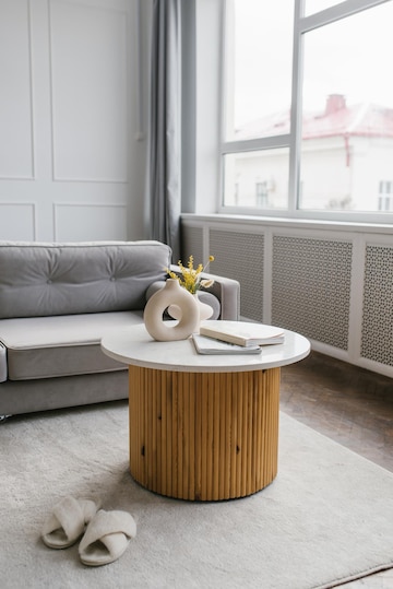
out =
[[[159,242],[0,242],[0,318],[143,309],[170,262]]]

